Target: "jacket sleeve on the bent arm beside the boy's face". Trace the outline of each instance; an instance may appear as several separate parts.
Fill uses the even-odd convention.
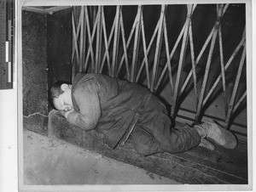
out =
[[[101,117],[101,104],[96,82],[90,79],[77,85],[73,97],[79,112],[70,113],[67,116],[67,121],[85,130],[95,128]]]

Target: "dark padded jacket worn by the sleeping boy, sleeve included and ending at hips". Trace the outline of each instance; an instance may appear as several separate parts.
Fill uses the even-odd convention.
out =
[[[72,87],[74,111],[67,116],[74,126],[95,129],[114,148],[134,127],[148,104],[147,88],[96,73],[79,73]]]

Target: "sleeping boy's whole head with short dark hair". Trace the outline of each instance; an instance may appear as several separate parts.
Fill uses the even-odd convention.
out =
[[[72,84],[65,81],[55,82],[50,88],[50,99],[56,110],[73,110],[71,88]]]

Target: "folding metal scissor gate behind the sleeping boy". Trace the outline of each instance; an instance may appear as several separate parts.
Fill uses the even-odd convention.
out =
[[[154,93],[164,87],[173,119],[186,110],[201,121],[220,98],[224,111],[215,119],[230,128],[245,108],[245,4],[79,6],[72,24],[73,76],[104,73]],[[239,126],[234,132],[246,137],[246,125]]]

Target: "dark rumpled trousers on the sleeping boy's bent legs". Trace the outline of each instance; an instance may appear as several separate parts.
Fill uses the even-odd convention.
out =
[[[131,133],[131,141],[141,155],[175,154],[199,145],[201,137],[193,127],[173,128],[165,104],[152,95]]]

